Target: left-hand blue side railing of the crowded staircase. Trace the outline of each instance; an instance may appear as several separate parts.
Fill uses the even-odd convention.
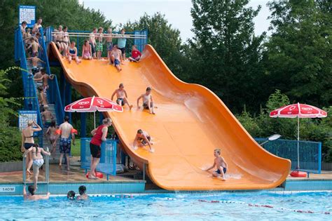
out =
[[[27,58],[25,56],[25,42],[22,37],[22,32],[20,27],[15,29],[15,49],[14,58],[16,62],[20,62],[20,67],[22,68],[22,83],[24,91],[24,105],[27,110],[35,110],[37,112],[37,123],[43,128],[43,123],[41,121],[41,114],[39,110],[39,101],[36,93],[36,85],[32,74],[29,73]],[[43,145],[43,132],[39,132],[39,145]]]

